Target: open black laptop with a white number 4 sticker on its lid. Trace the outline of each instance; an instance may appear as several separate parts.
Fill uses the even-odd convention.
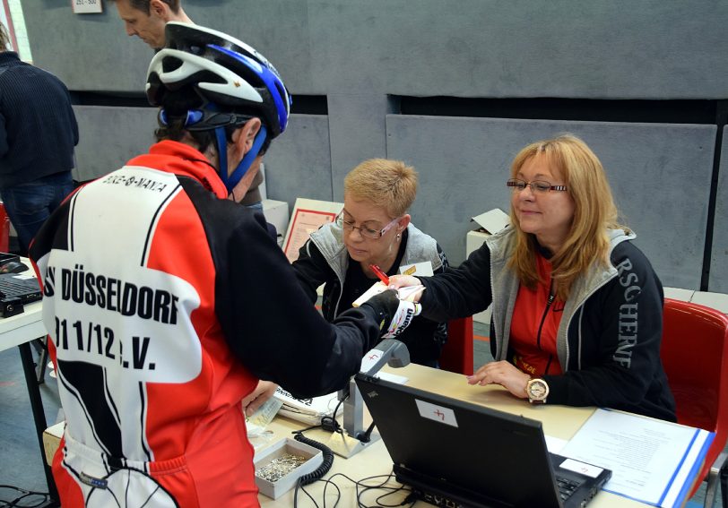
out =
[[[356,383],[397,481],[429,504],[582,507],[611,478],[609,469],[550,453],[537,420],[369,375]]]

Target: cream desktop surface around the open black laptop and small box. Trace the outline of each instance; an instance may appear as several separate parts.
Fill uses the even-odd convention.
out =
[[[408,384],[423,390],[428,390],[429,392],[435,392],[448,397],[467,400],[475,404],[487,405],[508,413],[541,420],[544,433],[553,437],[559,437],[560,439],[570,439],[594,412],[594,408],[531,406],[527,402],[524,402],[524,400],[516,400],[506,390],[498,386],[472,387],[465,383],[463,375],[455,375],[428,367],[411,365],[402,369],[385,367],[385,370],[396,375],[406,376],[409,379]],[[275,418],[270,426],[270,429],[274,433],[273,441],[281,437],[291,437],[290,432],[298,430],[301,427],[302,425],[298,422],[287,418]],[[330,436],[320,430],[308,431],[306,435],[321,443],[326,443]],[[377,443],[371,444],[368,448],[351,457],[351,459],[342,459],[336,456],[334,466],[325,478],[331,478],[336,473],[342,473],[354,480],[361,480],[375,475],[387,475],[391,471],[392,461],[386,452],[384,443],[379,440]],[[367,483],[368,485],[376,485],[381,483],[383,479],[380,479],[378,482],[368,481]],[[341,489],[342,500],[340,506],[356,506],[356,487],[354,484],[342,477],[334,478],[334,482]],[[394,479],[388,485],[398,486],[394,482]],[[316,482],[306,487],[308,493],[316,499],[316,503],[319,506],[323,505],[324,488],[324,482]],[[383,490],[374,490],[368,492],[363,500],[367,504],[373,504],[377,496],[383,494],[385,494]],[[394,494],[387,497],[384,503],[397,504],[403,497],[403,494]],[[258,495],[258,499],[264,507],[293,506],[293,490],[291,489],[288,493],[274,501],[265,495]],[[333,505],[335,501],[335,489],[332,486],[328,486],[326,490],[326,504]],[[307,496],[300,492],[299,502],[306,506],[312,505]],[[429,506],[429,504],[418,503],[416,506],[424,507]],[[589,508],[620,508],[629,506],[636,507],[645,505],[608,492],[601,492],[589,504]]]

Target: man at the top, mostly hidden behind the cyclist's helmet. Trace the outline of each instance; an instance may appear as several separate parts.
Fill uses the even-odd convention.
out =
[[[190,23],[179,0],[112,0],[117,4],[119,17],[124,22],[126,35],[135,35],[146,42],[152,49],[164,47],[164,27],[168,22]],[[263,211],[260,185],[263,184],[263,173],[252,168],[256,177],[247,189],[240,204]]]

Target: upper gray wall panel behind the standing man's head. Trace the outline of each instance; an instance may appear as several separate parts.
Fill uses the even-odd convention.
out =
[[[290,90],[325,93],[310,84],[307,2],[184,4],[195,22],[227,31],[260,50],[281,70]],[[57,0],[23,1],[22,9],[34,63],[56,73],[70,90],[143,91],[154,52],[141,39],[126,35],[115,4],[104,2],[100,14],[74,14],[69,2]]]

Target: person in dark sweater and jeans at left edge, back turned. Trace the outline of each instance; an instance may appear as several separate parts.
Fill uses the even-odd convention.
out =
[[[78,125],[65,84],[22,62],[8,43],[0,23],[0,194],[26,255],[40,226],[74,190]]]

